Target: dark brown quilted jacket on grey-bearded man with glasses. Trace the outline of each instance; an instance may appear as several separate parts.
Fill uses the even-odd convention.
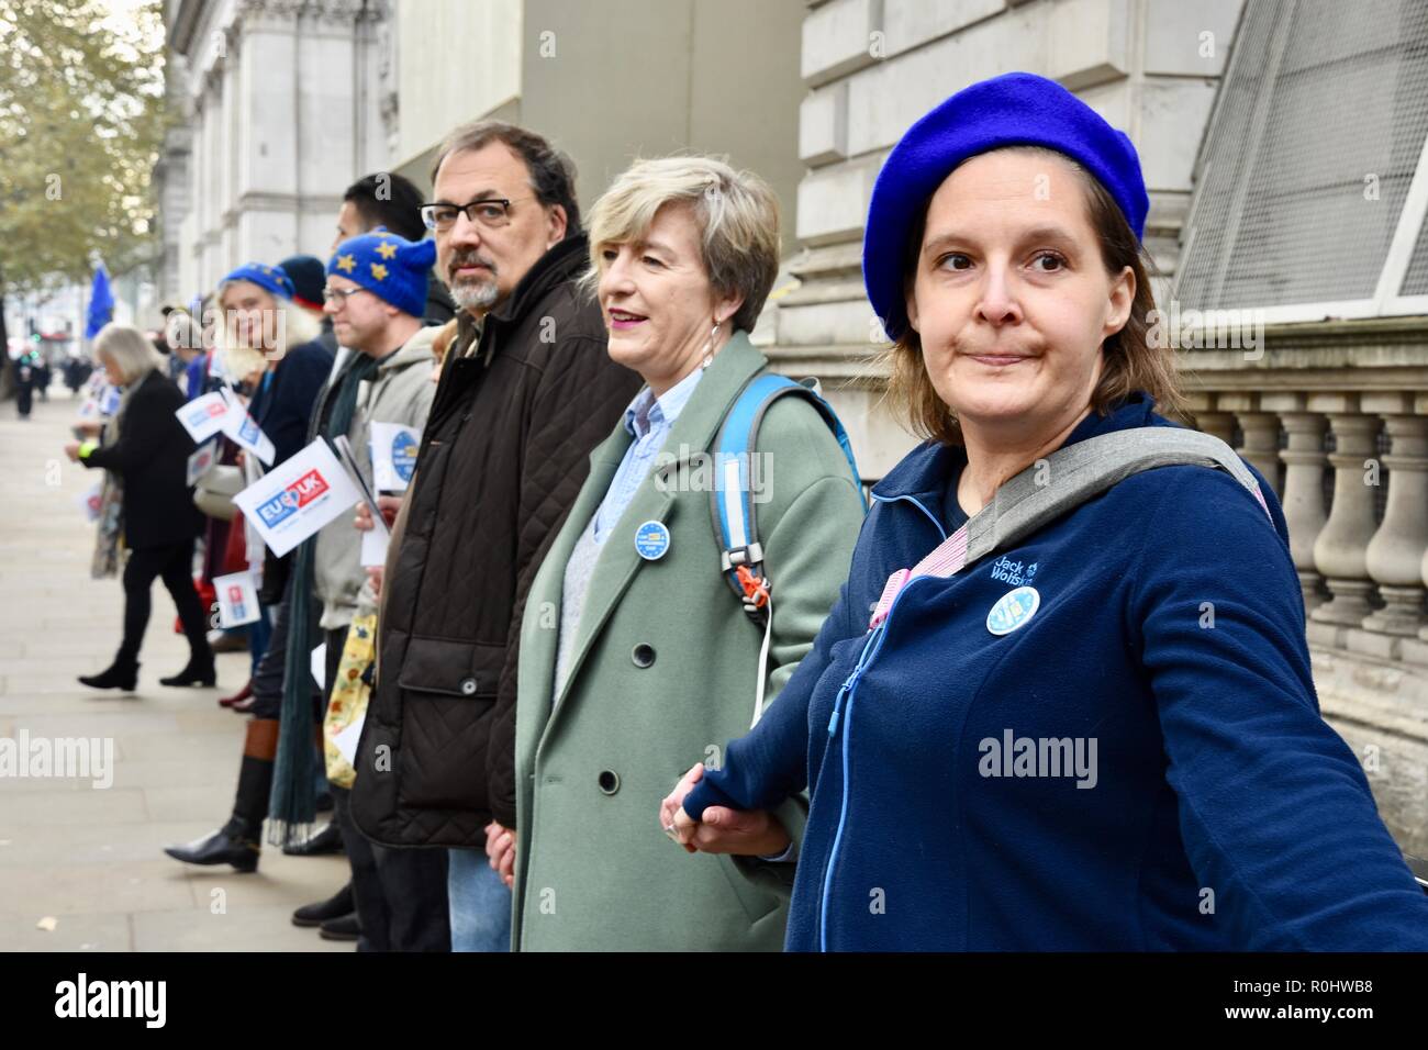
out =
[[[480,849],[493,710],[514,717],[521,611],[540,560],[640,377],[610,360],[580,293],[585,239],[557,244],[474,326],[463,314],[383,584],[377,686],[351,813],[388,846]]]

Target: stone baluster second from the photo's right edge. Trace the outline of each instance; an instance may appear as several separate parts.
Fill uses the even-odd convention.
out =
[[[1334,506],[1329,520],[1314,541],[1314,566],[1324,574],[1332,600],[1314,610],[1315,623],[1358,627],[1372,609],[1368,596],[1374,581],[1365,561],[1374,523],[1374,491],[1364,483],[1365,460],[1375,457],[1378,417],[1359,414],[1358,394],[1312,394],[1309,409],[1328,413],[1337,451]]]

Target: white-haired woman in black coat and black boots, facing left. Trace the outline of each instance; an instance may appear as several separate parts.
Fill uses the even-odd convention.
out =
[[[186,484],[193,441],[174,416],[184,396],[164,371],[164,357],[144,333],[107,324],[94,337],[94,357],[110,383],[123,389],[119,410],[100,441],[71,441],[64,453],[87,469],[110,471],[120,486],[124,563],[124,637],[114,661],[99,674],[80,676],[94,689],[133,690],[139,650],[149,626],[150,587],[164,581],[188,639],[188,664],[160,679],[164,686],[213,686],[216,673],[207,623],[193,586],[193,541],[201,516]]]

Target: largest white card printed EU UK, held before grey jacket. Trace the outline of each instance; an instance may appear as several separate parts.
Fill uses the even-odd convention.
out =
[[[341,514],[361,493],[321,437],[233,497],[268,549],[283,556]]]

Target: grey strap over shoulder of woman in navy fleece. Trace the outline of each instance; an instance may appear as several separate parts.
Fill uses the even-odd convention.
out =
[[[1131,474],[1197,463],[1225,470],[1269,513],[1254,474],[1218,437],[1181,427],[1117,430],[1058,449],[1002,484],[967,523],[967,561],[1014,544]]]

